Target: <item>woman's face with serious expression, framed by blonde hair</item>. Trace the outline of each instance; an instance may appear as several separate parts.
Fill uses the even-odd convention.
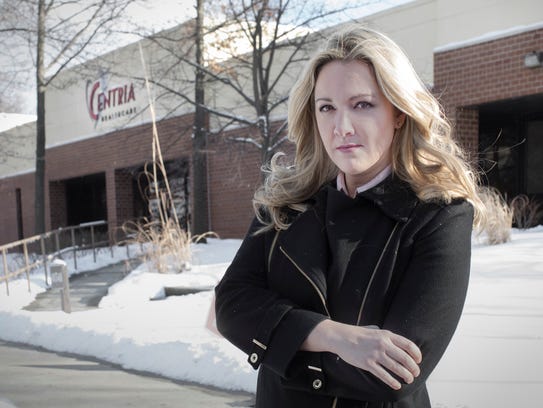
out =
[[[391,163],[394,130],[405,117],[385,98],[370,67],[360,61],[332,61],[321,68],[315,115],[322,143],[345,173],[350,194]]]

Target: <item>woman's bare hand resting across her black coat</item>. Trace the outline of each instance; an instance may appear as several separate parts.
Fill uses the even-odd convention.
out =
[[[302,350],[337,354],[395,390],[399,390],[401,384],[390,372],[410,384],[420,374],[418,364],[422,361],[419,348],[405,337],[376,326],[352,326],[333,320],[324,320],[315,326],[302,344]]]

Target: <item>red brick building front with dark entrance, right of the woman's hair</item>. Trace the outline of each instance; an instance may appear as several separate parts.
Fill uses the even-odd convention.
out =
[[[489,185],[543,199],[543,24],[435,52],[435,92]]]

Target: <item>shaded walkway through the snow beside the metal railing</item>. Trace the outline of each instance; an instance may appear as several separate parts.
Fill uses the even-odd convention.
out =
[[[107,295],[108,288],[120,281],[139,261],[132,260],[129,265],[125,261],[86,271],[70,277],[70,303],[72,312],[94,309],[98,307],[102,297]],[[49,288],[36,296],[36,299],[24,308],[29,311],[61,310],[60,288]]]

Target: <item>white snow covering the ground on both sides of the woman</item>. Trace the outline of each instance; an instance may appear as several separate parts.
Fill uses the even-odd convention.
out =
[[[246,356],[206,328],[212,293],[160,297],[165,286],[217,283],[240,240],[195,245],[193,267],[158,274],[141,265],[113,285],[98,309],[65,314],[22,310],[45,290],[42,272],[0,286],[0,338],[94,356],[179,380],[253,392],[256,372]],[[118,262],[102,253],[98,263]],[[70,263],[68,263],[70,267]],[[72,267],[73,268],[73,267]],[[73,273],[74,271],[72,271]],[[429,380],[434,408],[510,408],[539,402],[543,386],[543,227],[513,230],[512,241],[474,240],[472,275],[462,319]]]

